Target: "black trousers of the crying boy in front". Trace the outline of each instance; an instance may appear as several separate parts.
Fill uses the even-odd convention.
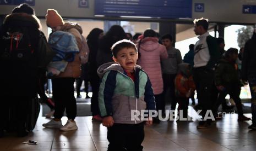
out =
[[[144,140],[144,122],[139,124],[114,124],[107,128],[108,151],[140,151]]]

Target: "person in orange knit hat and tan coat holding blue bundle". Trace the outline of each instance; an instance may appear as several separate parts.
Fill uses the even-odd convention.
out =
[[[61,131],[77,130],[75,117],[77,116],[77,101],[74,97],[75,78],[79,78],[81,74],[81,63],[89,52],[85,38],[82,36],[83,30],[81,26],[74,22],[64,22],[61,15],[55,9],[48,9],[46,14],[46,24],[52,28],[48,43],[57,56],[53,57],[51,73],[53,100],[55,100],[54,119],[42,126],[48,128],[60,128]],[[63,38],[58,38],[63,37]],[[74,37],[74,38],[73,38]],[[63,40],[63,43],[54,44],[56,39]],[[66,40],[66,42],[65,42]],[[58,41],[56,42],[58,43]],[[61,45],[63,44],[63,45]],[[88,61],[88,60],[87,60]],[[48,69],[49,71],[49,66]],[[47,72],[48,72],[47,71]],[[57,72],[55,72],[57,71]],[[49,73],[49,72],[48,72]],[[67,123],[63,126],[61,118],[66,109]]]

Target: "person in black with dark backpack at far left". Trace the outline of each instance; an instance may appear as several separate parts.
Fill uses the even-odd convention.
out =
[[[6,127],[15,127],[19,137],[28,135],[26,120],[29,101],[37,94],[37,80],[44,68],[38,60],[40,21],[34,15],[34,9],[28,4],[21,4],[4,19],[0,31],[0,137]],[[44,37],[44,36],[43,36]],[[14,123],[8,125],[9,111],[15,114]],[[2,123],[3,121],[3,123]]]

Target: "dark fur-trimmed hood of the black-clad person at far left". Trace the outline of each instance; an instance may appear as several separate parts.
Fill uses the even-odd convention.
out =
[[[26,27],[36,27],[41,29],[40,20],[35,15],[29,15],[26,13],[13,13],[6,16],[3,24],[7,26],[18,25]]]

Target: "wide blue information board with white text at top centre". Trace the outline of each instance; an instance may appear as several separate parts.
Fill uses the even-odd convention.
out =
[[[95,0],[95,15],[134,18],[192,18],[192,0]]]

